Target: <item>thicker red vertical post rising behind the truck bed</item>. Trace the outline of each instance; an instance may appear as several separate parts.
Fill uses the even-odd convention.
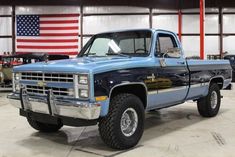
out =
[[[204,30],[204,21],[205,21],[205,1],[200,0],[200,58],[204,59],[204,38],[205,38],[205,30]]]

